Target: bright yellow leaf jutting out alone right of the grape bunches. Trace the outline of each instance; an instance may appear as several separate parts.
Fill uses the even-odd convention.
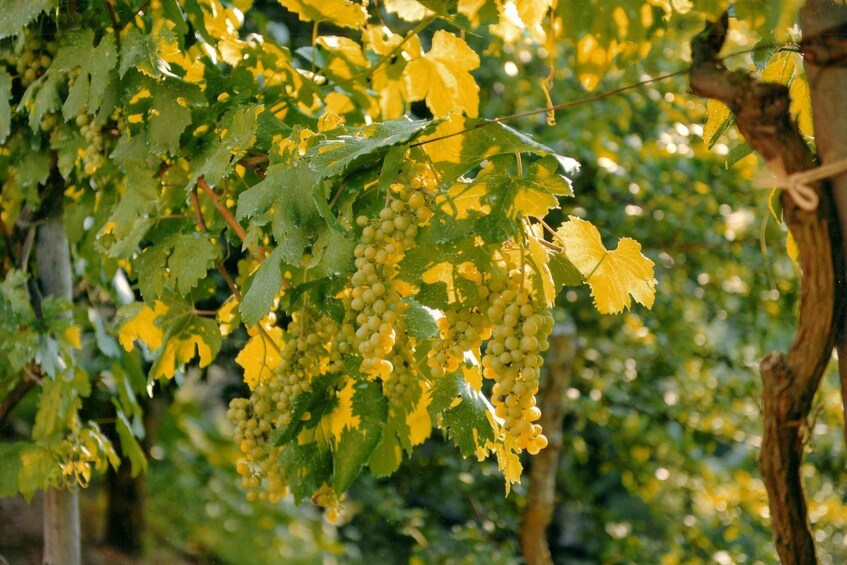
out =
[[[603,314],[617,314],[632,304],[653,307],[656,279],[653,262],[641,254],[641,244],[623,237],[618,248],[603,246],[600,232],[591,222],[569,216],[568,222],[556,230],[565,244],[565,255],[591,286],[594,305]]]

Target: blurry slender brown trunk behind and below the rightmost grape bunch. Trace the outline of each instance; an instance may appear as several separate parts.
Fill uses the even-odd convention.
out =
[[[526,509],[521,520],[521,551],[527,565],[553,562],[547,544],[547,528],[555,509],[564,398],[576,355],[576,331],[572,325],[557,325],[550,341],[547,382],[539,394],[541,419],[538,422],[547,435],[548,445],[532,460]]]

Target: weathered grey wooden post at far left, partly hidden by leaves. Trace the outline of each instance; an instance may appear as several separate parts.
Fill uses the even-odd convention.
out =
[[[55,199],[55,195],[52,198]],[[59,203],[61,198],[60,194]],[[70,249],[62,223],[61,205],[55,200],[47,204],[51,208],[50,213],[38,227],[36,235],[38,285],[43,296],[72,300]],[[34,300],[39,301],[39,298],[34,297]],[[40,312],[40,306],[37,310]],[[47,489],[44,493],[43,563],[79,565],[81,561],[79,496],[68,490]]]

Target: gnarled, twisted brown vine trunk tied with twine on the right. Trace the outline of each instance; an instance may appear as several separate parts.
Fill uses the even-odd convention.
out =
[[[789,111],[788,89],[730,72],[718,58],[728,18],[710,23],[691,43],[691,89],[719,100],[735,114],[750,146],[779,174],[816,165]],[[797,332],[787,355],[773,353],[761,363],[764,431],[759,466],[768,491],[771,527],[785,565],[816,563],[800,464],[802,426],[812,405],[835,342],[836,315],[833,232],[837,218],[829,191],[818,183],[817,210],[800,209],[782,193],[783,215],[797,241],[803,271]],[[836,238],[837,238],[837,234]]]

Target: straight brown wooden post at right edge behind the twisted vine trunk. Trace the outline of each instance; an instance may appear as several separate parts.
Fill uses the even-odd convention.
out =
[[[839,94],[847,92],[847,6],[833,0],[807,0],[800,10],[803,35],[804,67],[809,79],[812,114],[815,125],[815,145],[818,160],[828,164],[847,159],[847,112]],[[830,179],[833,201],[841,223],[842,257],[847,241],[847,173]],[[842,259],[847,263],[847,258]],[[835,273],[841,288],[845,274]],[[843,303],[845,297],[837,297]],[[843,308],[843,306],[842,306]],[[847,317],[842,317],[838,328],[838,372],[841,377],[841,399],[847,415]],[[847,439],[847,417],[844,419]]]

